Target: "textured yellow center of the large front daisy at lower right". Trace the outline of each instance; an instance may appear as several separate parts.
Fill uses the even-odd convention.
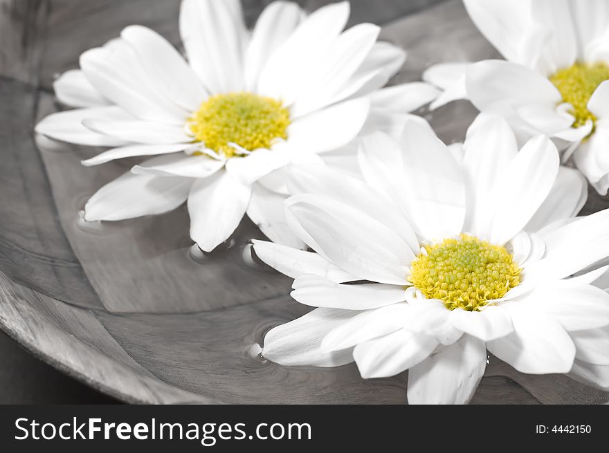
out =
[[[521,269],[505,247],[476,237],[461,234],[424,250],[412,261],[410,281],[449,310],[478,311],[520,283]]]

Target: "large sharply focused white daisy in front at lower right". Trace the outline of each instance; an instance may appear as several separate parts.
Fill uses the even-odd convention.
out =
[[[593,283],[609,267],[597,264],[609,210],[574,218],[585,179],[548,138],[518,151],[507,122],[482,114],[462,147],[408,121],[401,142],[377,133],[359,153],[367,184],[293,169],[287,218],[315,252],[254,243],[316,307],[271,329],[265,358],[355,361],[363,378],[408,369],[410,403],[466,403],[487,350],[524,373],[606,385],[609,295]]]

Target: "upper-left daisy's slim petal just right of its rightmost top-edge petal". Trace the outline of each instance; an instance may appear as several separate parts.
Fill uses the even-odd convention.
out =
[[[307,68],[309,77],[301,87],[292,106],[294,118],[300,118],[336,100],[345,84],[356,73],[381,28],[373,24],[358,24],[328,43],[319,62]]]

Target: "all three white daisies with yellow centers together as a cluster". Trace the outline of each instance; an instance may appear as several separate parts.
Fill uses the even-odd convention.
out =
[[[147,156],[93,194],[85,221],[188,204],[210,252],[247,215],[257,257],[313,309],[266,334],[287,366],[408,370],[409,403],[466,403],[488,354],[609,389],[609,0],[464,0],[505,57],[386,87],[406,59],[349,3],[183,0],[183,52],[129,26],[55,81],[37,133]],[[445,145],[412,115],[480,115]],[[562,165],[561,165],[562,164]]]

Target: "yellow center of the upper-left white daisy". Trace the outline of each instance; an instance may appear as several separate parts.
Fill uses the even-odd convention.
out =
[[[269,148],[278,138],[287,138],[290,112],[282,102],[253,93],[210,96],[199,111],[188,118],[188,128],[198,142],[226,158],[247,151]]]

